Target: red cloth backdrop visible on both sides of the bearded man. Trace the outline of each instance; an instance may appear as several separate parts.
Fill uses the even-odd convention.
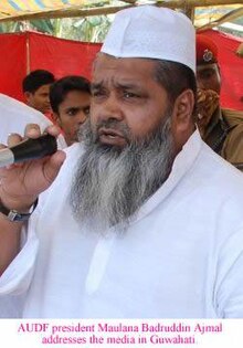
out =
[[[219,49],[222,106],[243,110],[243,57],[235,54],[243,40],[212,30],[204,34],[212,38]],[[0,34],[0,93],[22,101],[22,80],[35,68],[46,68],[57,78],[71,74],[91,78],[92,62],[99,49],[97,43],[34,32]]]

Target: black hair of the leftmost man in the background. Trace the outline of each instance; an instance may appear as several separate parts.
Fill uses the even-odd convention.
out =
[[[23,78],[23,92],[36,92],[41,86],[52,84],[55,81],[54,75],[46,70],[35,70]]]

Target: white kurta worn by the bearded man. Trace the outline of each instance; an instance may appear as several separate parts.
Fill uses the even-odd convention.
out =
[[[0,280],[2,295],[23,299],[19,315],[243,317],[242,173],[196,131],[127,232],[104,239],[84,231],[68,205],[80,151],[67,150],[27,243]]]

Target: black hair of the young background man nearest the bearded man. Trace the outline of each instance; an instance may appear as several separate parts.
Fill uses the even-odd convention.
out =
[[[91,83],[83,76],[65,76],[57,80],[50,88],[50,103],[52,110],[59,114],[59,106],[71,91],[91,94]]]

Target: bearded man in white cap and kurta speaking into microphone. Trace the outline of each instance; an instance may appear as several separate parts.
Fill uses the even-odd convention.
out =
[[[194,130],[194,52],[182,13],[118,12],[81,145],[0,170],[0,294],[21,317],[243,316],[243,178]],[[3,210],[44,190],[19,252]]]

